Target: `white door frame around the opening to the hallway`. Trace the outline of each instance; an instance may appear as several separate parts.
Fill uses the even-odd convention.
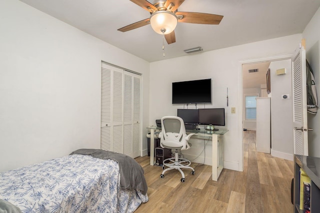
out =
[[[261,58],[253,58],[253,59],[247,59],[247,60],[240,60],[238,61],[238,103],[239,103],[239,110],[238,110],[238,150],[239,150],[239,156],[238,156],[238,162],[239,162],[239,169],[238,171],[243,172],[243,85],[242,85],[242,65],[243,64],[250,64],[250,63],[260,63],[260,62],[267,62],[267,61],[278,61],[278,60],[285,60],[290,59],[292,57],[291,53],[286,54],[280,54],[280,55],[273,55],[273,56],[267,56],[267,57],[261,57]]]

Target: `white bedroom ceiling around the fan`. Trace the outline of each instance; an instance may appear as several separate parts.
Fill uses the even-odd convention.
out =
[[[184,49],[197,46],[209,51],[301,33],[320,6],[320,0],[184,0],[178,11],[224,17],[219,25],[178,22],[176,42],[165,45],[163,57],[162,35],[150,25],[117,30],[150,16],[130,0],[20,1],[149,62],[184,56]]]

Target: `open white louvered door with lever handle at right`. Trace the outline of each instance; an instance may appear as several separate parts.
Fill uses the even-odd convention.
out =
[[[292,58],[293,153],[308,155],[305,50],[301,45]]]

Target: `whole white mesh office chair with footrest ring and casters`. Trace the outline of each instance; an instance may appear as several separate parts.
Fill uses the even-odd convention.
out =
[[[175,157],[163,161],[162,168],[164,169],[165,166],[168,168],[162,171],[160,178],[164,178],[164,173],[166,171],[176,169],[181,173],[181,182],[183,183],[185,179],[184,173],[181,170],[182,168],[191,169],[191,174],[195,174],[194,169],[189,167],[191,162],[187,159],[178,157],[178,150],[187,150],[190,148],[191,144],[188,143],[188,140],[192,135],[194,135],[194,133],[186,135],[182,118],[165,116],[161,119],[161,132],[159,134],[160,146],[162,148],[175,149]]]

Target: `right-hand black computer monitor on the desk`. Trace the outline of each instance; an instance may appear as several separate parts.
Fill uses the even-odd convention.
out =
[[[199,124],[225,126],[224,108],[199,109]]]

